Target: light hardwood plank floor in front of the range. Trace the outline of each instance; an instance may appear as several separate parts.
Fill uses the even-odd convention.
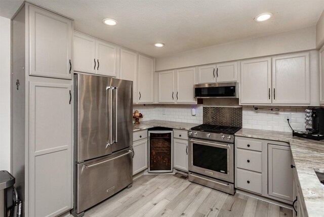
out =
[[[145,175],[133,187],[87,210],[100,216],[290,217],[292,210],[236,193],[234,196],[172,175]]]

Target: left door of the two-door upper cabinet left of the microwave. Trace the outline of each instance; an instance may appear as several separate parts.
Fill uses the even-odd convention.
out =
[[[158,72],[158,102],[175,103],[174,70]]]

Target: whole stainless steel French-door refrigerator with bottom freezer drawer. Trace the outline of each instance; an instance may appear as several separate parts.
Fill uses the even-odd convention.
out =
[[[74,216],[133,183],[133,82],[74,75]]]

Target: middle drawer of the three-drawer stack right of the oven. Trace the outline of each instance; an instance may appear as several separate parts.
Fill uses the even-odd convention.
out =
[[[236,167],[262,172],[262,152],[237,148]]]

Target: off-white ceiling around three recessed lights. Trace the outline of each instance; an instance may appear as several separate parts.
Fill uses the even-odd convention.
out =
[[[74,19],[74,29],[152,57],[308,26],[324,0],[29,0]],[[22,0],[0,0],[0,16],[12,18]],[[253,18],[271,12],[258,23]],[[118,21],[116,26],[102,23]],[[165,47],[156,48],[154,42]]]

